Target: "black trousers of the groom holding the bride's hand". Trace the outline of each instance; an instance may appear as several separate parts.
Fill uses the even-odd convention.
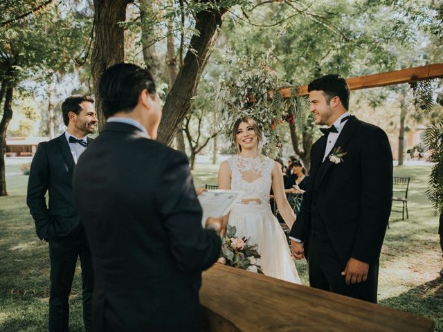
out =
[[[330,241],[320,241],[311,237],[308,250],[309,284],[311,287],[377,303],[378,264],[370,265],[368,280],[359,284],[347,285],[345,276],[341,275],[345,270],[346,263],[343,264],[339,261]]]

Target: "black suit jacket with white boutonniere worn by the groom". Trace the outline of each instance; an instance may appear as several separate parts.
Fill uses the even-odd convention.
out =
[[[334,149],[347,154],[343,162],[323,162],[327,136],[311,149],[309,187],[291,237],[314,236],[332,244],[343,268],[350,257],[377,264],[392,198],[392,153],[386,133],[352,116]]]

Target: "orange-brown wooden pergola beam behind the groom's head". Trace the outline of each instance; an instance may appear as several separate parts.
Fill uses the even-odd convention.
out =
[[[401,83],[417,82],[422,80],[431,80],[433,78],[443,77],[443,64],[428,64],[427,66],[406,68],[399,71],[388,71],[373,75],[351,77],[347,79],[351,90],[377,88],[378,86],[388,86]],[[293,88],[280,89],[279,92],[283,98],[291,97]],[[300,86],[299,95],[308,95],[307,85]],[[273,91],[269,92],[269,98],[272,98]]]

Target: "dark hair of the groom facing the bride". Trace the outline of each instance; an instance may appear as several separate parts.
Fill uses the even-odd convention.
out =
[[[341,75],[329,74],[317,78],[307,86],[308,92],[314,90],[323,91],[327,104],[329,104],[332,98],[337,96],[340,98],[343,107],[345,107],[346,110],[349,109],[350,89],[346,80]]]

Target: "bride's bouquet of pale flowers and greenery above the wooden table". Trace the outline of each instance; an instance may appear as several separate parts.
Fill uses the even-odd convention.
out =
[[[226,226],[226,236],[221,239],[221,255],[217,262],[264,274],[257,264],[257,259],[261,257],[257,252],[258,244],[248,244],[248,238],[239,239],[235,236],[235,232],[237,232],[235,226]]]

